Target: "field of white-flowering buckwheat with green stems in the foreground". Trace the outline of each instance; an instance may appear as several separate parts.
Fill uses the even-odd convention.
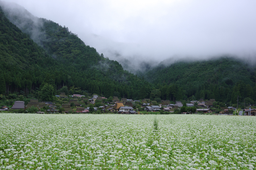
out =
[[[0,114],[0,169],[255,169],[256,117]]]

